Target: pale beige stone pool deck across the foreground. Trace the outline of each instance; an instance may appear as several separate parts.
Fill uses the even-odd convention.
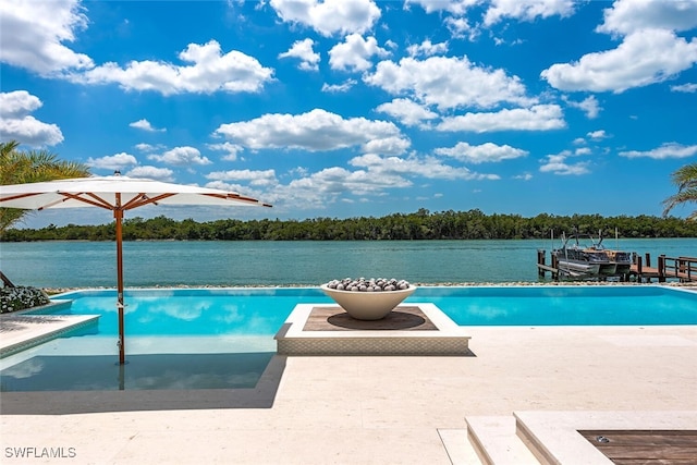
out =
[[[2,463],[479,464],[466,418],[514,413],[697,429],[696,326],[467,334],[470,356],[276,356],[252,390],[5,392]],[[497,463],[537,463],[516,439]]]

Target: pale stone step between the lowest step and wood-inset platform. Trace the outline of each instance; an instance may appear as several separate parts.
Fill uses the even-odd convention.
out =
[[[486,465],[539,465],[540,462],[516,435],[514,416],[470,416],[467,438]]]

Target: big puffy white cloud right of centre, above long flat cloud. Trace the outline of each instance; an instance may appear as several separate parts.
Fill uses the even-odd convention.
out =
[[[530,105],[517,76],[503,70],[477,68],[467,57],[430,57],[419,61],[403,58],[399,63],[381,61],[364,81],[392,95],[411,96],[440,109],[491,108],[501,102]]]

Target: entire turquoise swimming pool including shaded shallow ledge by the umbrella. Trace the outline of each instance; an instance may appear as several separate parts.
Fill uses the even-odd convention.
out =
[[[254,388],[273,335],[296,304],[332,302],[317,287],[129,290],[127,365],[119,367],[114,291],[54,296],[53,314],[98,323],[0,360],[1,391]],[[427,286],[461,326],[697,325],[697,292],[668,286]]]

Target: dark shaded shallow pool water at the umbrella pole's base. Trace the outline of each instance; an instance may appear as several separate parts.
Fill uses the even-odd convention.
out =
[[[0,391],[250,389],[274,354],[38,355],[5,368]]]

